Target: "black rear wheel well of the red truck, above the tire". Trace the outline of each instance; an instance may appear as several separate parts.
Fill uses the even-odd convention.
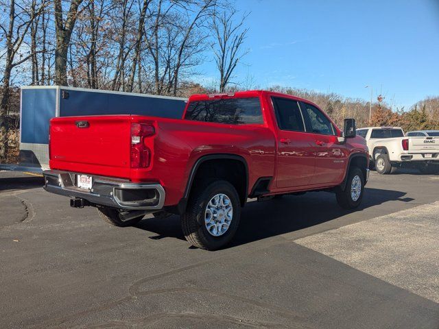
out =
[[[230,158],[204,160],[196,170],[189,195],[203,180],[226,180],[236,188],[241,205],[244,206],[248,188],[247,169],[244,163]]]

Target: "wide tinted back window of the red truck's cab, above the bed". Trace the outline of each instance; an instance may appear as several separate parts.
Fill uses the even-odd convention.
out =
[[[263,123],[258,97],[191,101],[185,119],[233,125]]]

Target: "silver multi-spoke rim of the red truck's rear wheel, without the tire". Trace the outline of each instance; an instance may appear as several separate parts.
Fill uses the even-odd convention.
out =
[[[230,228],[233,219],[233,205],[230,198],[219,193],[212,197],[204,211],[204,225],[213,236],[221,236]]]

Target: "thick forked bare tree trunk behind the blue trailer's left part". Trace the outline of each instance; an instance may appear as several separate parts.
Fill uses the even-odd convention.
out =
[[[67,19],[64,22],[62,0],[54,0],[56,28],[55,84],[60,86],[67,86],[67,53],[81,3],[82,0],[71,0]]]

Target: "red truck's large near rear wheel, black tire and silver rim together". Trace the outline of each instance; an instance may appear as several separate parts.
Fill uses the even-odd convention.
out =
[[[183,234],[195,247],[219,249],[235,235],[240,216],[239,195],[232,184],[224,180],[200,184],[182,215]]]

